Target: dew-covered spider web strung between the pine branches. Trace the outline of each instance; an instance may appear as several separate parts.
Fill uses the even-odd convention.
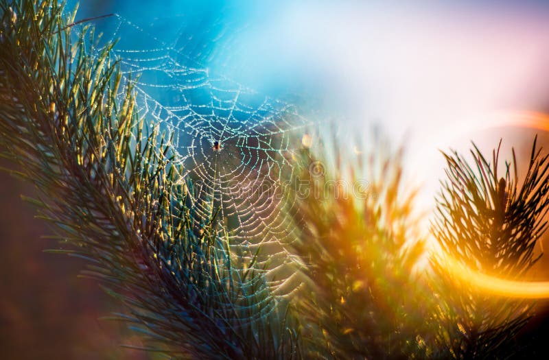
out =
[[[284,185],[312,124],[295,106],[213,76],[185,53],[184,31],[166,43],[121,16],[115,21],[115,54],[126,80],[138,79],[139,114],[173,133],[174,161],[193,188],[191,206],[202,220],[218,211],[233,252],[248,260],[259,254],[257,268],[268,273],[273,293],[294,291],[299,281],[284,246],[297,230],[285,211],[294,200]]]

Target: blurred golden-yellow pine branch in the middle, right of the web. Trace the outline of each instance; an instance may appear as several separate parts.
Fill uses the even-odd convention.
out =
[[[339,157],[337,146],[335,151]],[[314,167],[301,174],[309,188],[299,189],[303,234],[294,250],[309,278],[299,298],[309,324],[303,336],[316,343],[309,357],[402,359],[428,353],[421,339],[421,279],[413,271],[423,253],[414,232],[414,195],[403,192],[399,154],[381,143],[374,151],[366,169],[361,157],[348,178],[342,174],[349,168],[339,160],[331,173],[326,163],[304,159]],[[363,170],[368,182],[358,176]]]

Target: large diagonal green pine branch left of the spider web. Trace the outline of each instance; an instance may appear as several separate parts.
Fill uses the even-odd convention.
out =
[[[235,266],[215,215],[194,212],[170,134],[146,130],[113,45],[95,49],[56,0],[0,9],[0,141],[42,194],[40,217],[90,259],[84,274],[127,305],[116,317],[174,357],[298,356],[287,304]]]

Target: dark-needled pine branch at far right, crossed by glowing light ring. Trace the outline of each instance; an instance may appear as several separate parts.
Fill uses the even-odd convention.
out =
[[[453,278],[445,256],[484,274],[521,278],[539,258],[535,243],[547,228],[549,209],[548,156],[533,143],[526,176],[519,184],[517,161],[504,164],[498,176],[499,149],[491,163],[474,146],[472,165],[457,154],[444,154],[447,181],[432,225],[444,256],[432,261],[434,289],[440,305],[434,315],[441,357],[454,359],[507,358],[519,349],[514,335],[526,323],[530,305],[521,300],[482,293]]]

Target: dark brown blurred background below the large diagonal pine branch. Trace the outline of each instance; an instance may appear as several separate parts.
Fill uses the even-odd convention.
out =
[[[1,150],[1,149],[0,149]],[[0,167],[15,169],[0,158]],[[0,171],[0,358],[151,359],[125,324],[100,320],[119,311],[97,282],[78,278],[82,259],[47,254],[56,241],[35,219],[31,184]]]

